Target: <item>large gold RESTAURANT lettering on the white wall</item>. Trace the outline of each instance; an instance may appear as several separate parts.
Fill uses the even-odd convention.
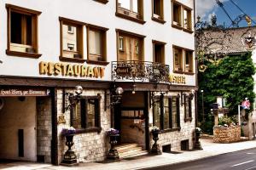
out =
[[[39,73],[42,75],[62,75],[63,77],[104,77],[105,68],[101,66],[71,65],[65,63],[39,63]]]

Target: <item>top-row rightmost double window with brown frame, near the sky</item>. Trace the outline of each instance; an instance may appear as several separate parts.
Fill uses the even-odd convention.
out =
[[[192,9],[172,1],[172,26],[192,32]]]

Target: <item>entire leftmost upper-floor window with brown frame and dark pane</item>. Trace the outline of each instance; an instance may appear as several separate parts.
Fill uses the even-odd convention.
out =
[[[38,15],[41,12],[6,4],[8,47],[6,54],[38,58]]]

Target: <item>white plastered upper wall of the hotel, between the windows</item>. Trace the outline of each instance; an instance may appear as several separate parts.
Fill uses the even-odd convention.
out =
[[[193,8],[193,1],[180,1],[189,8]],[[5,54],[7,43],[7,10],[5,4],[10,3],[20,7],[31,8],[41,11],[38,18],[38,45],[39,59],[8,56]],[[13,75],[25,77],[49,77],[39,75],[38,63],[40,61],[60,62],[60,22],[59,17],[79,20],[96,26],[109,28],[107,31],[107,59],[117,60],[116,31],[121,29],[146,36],[144,39],[144,59],[152,61],[152,39],[166,42],[166,64],[170,65],[172,72],[172,45],[183,48],[195,49],[194,34],[172,28],[172,5],[171,1],[164,0],[164,25],[151,20],[151,1],[144,0],[144,25],[131,20],[125,20],[115,16],[116,1],[110,0],[107,4],[97,3],[93,0],[1,0],[0,1],[0,75]],[[3,45],[4,44],[4,45]],[[86,58],[86,31],[84,28],[84,57]],[[85,64],[86,65],[86,64]],[[15,68],[15,69],[14,69]],[[105,77],[101,80],[111,80],[111,64],[105,71]],[[195,69],[195,68],[194,68]],[[55,77],[55,76],[50,76]],[[61,78],[61,76],[58,76]],[[185,76],[187,85],[195,85],[195,75]],[[77,78],[79,77],[67,77]],[[96,78],[88,78],[96,79]],[[99,80],[99,79],[97,79]]]

